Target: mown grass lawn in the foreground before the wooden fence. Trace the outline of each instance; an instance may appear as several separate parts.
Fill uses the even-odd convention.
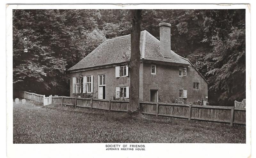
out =
[[[129,115],[26,100],[13,104],[13,143],[245,143],[245,126]]]

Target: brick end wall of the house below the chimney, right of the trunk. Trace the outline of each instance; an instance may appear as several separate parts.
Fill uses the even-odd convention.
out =
[[[180,99],[194,102],[198,99],[207,101],[208,85],[202,76],[192,66],[187,67],[187,76],[179,76],[178,66],[156,65],[156,75],[151,75],[151,64],[144,63],[143,100],[150,101],[150,90],[158,90],[161,102],[172,102]],[[194,90],[193,83],[199,83],[199,90]],[[187,90],[187,99],[180,98],[179,90]]]

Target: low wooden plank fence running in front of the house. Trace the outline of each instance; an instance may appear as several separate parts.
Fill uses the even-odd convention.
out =
[[[42,102],[42,95],[35,93],[23,92],[24,98]],[[21,96],[22,97],[22,96]],[[23,98],[23,97],[22,97]],[[41,99],[41,100],[40,100]],[[65,96],[53,96],[52,104],[69,105],[75,107],[90,107],[108,111],[128,111],[129,101],[115,101],[92,98],[76,98]],[[203,106],[161,102],[144,102],[140,101],[140,109],[143,114],[161,115],[186,118],[188,120],[204,120],[213,122],[226,122],[245,124],[246,108],[243,107],[223,107],[223,106]]]

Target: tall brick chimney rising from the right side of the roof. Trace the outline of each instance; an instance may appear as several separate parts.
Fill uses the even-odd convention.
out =
[[[171,58],[171,24],[160,23],[160,53],[164,58]]]

